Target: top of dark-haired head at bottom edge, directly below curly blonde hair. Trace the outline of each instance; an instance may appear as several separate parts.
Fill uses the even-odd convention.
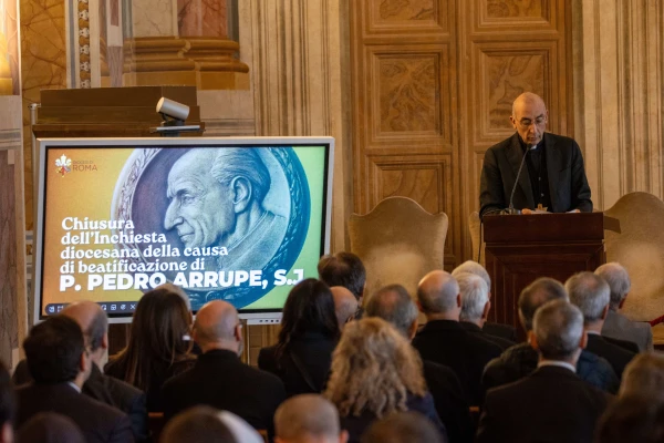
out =
[[[376,420],[362,435],[362,443],[444,443],[440,433],[417,412],[395,412]]]

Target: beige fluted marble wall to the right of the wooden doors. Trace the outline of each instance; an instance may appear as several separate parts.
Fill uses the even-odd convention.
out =
[[[664,3],[574,0],[575,136],[595,207],[664,197]]]

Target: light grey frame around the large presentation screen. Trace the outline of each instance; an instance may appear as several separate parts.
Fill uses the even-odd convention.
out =
[[[43,321],[50,316],[43,316],[42,312],[42,270],[43,270],[43,223],[45,212],[45,173],[46,173],[46,150],[58,147],[72,148],[104,148],[104,147],[177,147],[186,146],[312,146],[324,145],[326,151],[324,174],[326,181],[323,182],[323,210],[322,218],[322,245],[321,255],[330,254],[330,238],[332,225],[332,187],[334,172],[334,138],[329,136],[302,136],[302,137],[85,137],[85,138],[37,138],[39,153],[38,181],[38,200],[37,200],[37,224],[34,227],[34,266],[32,267],[32,300],[34,305],[33,321],[34,324]],[[194,312],[195,313],[195,312]],[[259,309],[259,310],[238,310],[239,317],[252,323],[276,323],[281,319],[281,309]],[[117,315],[107,312],[110,323],[131,323],[133,315]]]

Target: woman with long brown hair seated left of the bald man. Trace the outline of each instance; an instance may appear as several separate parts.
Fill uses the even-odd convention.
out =
[[[106,374],[145,392],[148,412],[162,412],[162,385],[195,362],[190,324],[191,313],[179,293],[168,287],[146,292],[136,306],[128,344],[110,359]]]

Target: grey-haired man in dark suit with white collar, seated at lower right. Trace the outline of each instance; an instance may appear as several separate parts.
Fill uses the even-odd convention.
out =
[[[564,299],[549,301],[535,315],[530,341],[537,370],[487,393],[476,442],[591,442],[609,395],[574,373],[583,315]]]

